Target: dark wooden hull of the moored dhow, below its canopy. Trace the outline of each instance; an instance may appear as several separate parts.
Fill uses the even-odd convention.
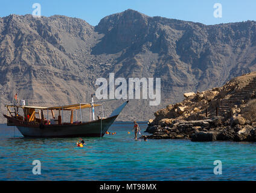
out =
[[[4,115],[12,122],[24,137],[34,138],[60,138],[60,137],[100,137],[104,136],[110,125],[118,115],[96,121],[78,124],[42,125],[34,122],[25,122]]]

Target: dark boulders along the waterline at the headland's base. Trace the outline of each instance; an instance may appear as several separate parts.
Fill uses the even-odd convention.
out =
[[[242,124],[242,125],[241,125]],[[191,139],[191,141],[256,141],[256,128],[243,118],[232,119],[229,123],[222,116],[198,121],[173,122],[150,125],[147,139]]]

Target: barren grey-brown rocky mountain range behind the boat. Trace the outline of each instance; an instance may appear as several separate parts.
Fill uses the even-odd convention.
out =
[[[114,72],[116,78],[161,78],[159,106],[130,100],[119,118],[142,121],[181,101],[185,92],[221,86],[255,70],[255,21],[203,25],[134,10],[106,16],[96,27],[66,16],[0,17],[4,113],[16,92],[29,105],[89,102],[96,79]],[[104,110],[110,113],[118,104],[108,102]]]

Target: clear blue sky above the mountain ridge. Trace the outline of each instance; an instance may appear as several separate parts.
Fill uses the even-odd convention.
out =
[[[203,24],[256,21],[256,0],[10,0],[1,2],[0,17],[32,14],[34,3],[42,16],[61,14],[97,25],[104,16],[132,8],[149,16],[162,16]],[[222,4],[222,18],[213,16],[213,5]]]

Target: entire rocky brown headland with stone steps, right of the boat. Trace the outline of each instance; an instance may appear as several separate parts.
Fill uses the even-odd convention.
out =
[[[145,131],[151,135],[141,138],[255,142],[255,91],[256,72],[252,72],[223,87],[184,93],[184,101],[155,113]]]

